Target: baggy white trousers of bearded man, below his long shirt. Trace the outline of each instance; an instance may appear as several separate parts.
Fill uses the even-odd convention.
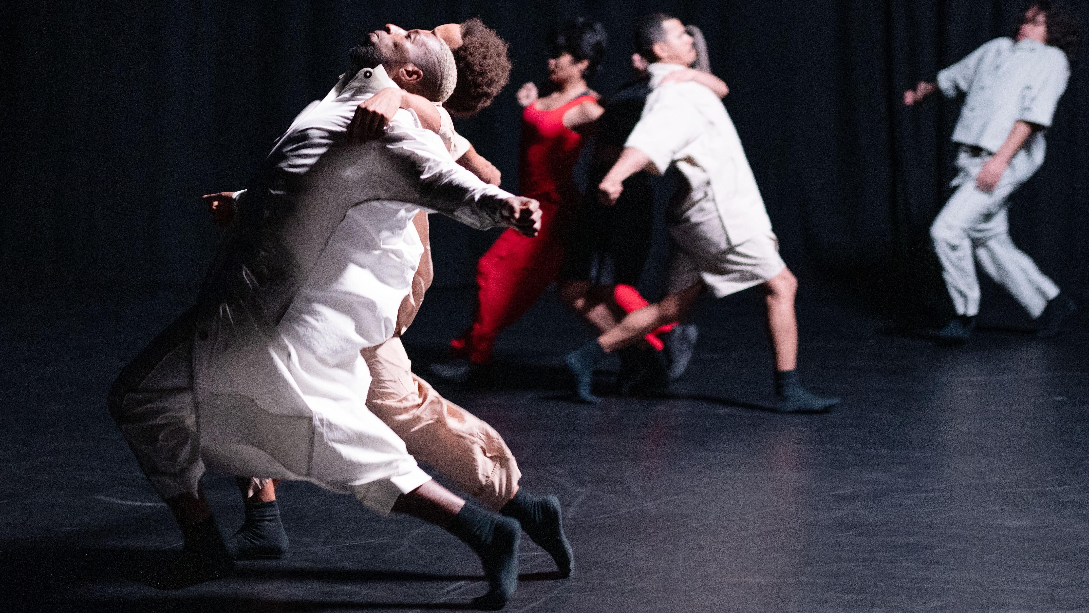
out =
[[[121,371],[110,390],[109,407],[121,433],[151,486],[163,500],[196,496],[205,462],[236,475],[265,475],[310,481],[327,490],[353,494],[386,515],[397,496],[429,481],[404,442],[365,406],[350,412],[315,413],[313,438],[276,438],[274,445],[310,451],[311,469],[293,473],[267,452],[250,445],[203,449],[197,432],[193,380],[193,317],[178,318]],[[362,403],[360,403],[362,404]],[[255,419],[260,419],[259,414]],[[271,418],[269,418],[271,419]],[[255,429],[260,424],[250,425]]]

